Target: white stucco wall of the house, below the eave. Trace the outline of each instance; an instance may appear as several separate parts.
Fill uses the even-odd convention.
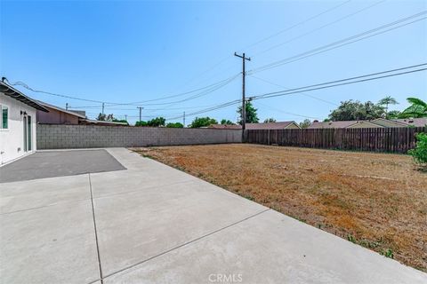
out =
[[[5,96],[2,92],[0,92],[0,105],[9,107],[9,128],[7,130],[0,129],[1,165],[36,151],[36,109],[21,103],[17,99]],[[20,111],[25,111],[31,115],[31,152],[24,152],[24,125],[22,122],[24,116],[20,114]]]

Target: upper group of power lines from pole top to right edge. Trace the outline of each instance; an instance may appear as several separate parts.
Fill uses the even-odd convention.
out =
[[[274,61],[274,62],[271,62],[269,64],[266,64],[266,65],[264,65],[262,67],[254,68],[254,69],[248,71],[248,73],[249,73],[249,75],[251,75],[251,74],[254,74],[254,73],[257,73],[257,72],[261,72],[261,71],[264,71],[264,70],[267,70],[267,69],[270,69],[270,68],[279,67],[279,66],[282,66],[282,65],[294,62],[296,60],[301,60],[301,59],[305,59],[305,58],[314,56],[314,55],[316,55],[318,53],[323,53],[323,52],[326,52],[326,51],[334,50],[336,48],[342,47],[344,45],[348,45],[350,43],[356,43],[356,42],[359,42],[359,41],[361,41],[363,39],[366,39],[366,38],[369,38],[369,37],[372,37],[372,36],[381,35],[383,33],[389,32],[389,31],[391,31],[393,29],[396,29],[396,28],[405,27],[405,26],[413,24],[413,23],[415,23],[417,21],[427,19],[426,17],[423,17],[421,19],[413,20],[413,19],[415,19],[415,18],[417,18],[419,16],[422,16],[422,15],[424,15],[426,13],[427,13],[427,11],[416,13],[416,14],[414,14],[412,16],[407,17],[407,18],[396,20],[394,22],[391,22],[389,24],[383,25],[381,27],[367,30],[367,31],[365,31],[363,33],[360,33],[358,35],[346,37],[346,38],[344,38],[342,40],[339,40],[339,41],[336,41],[334,43],[328,43],[328,44],[320,46],[320,47],[318,47],[316,49],[313,49],[313,50],[310,50],[310,51],[305,51],[305,52],[302,52],[300,54],[294,55],[294,56],[286,58],[286,59],[280,59],[278,61]],[[413,21],[405,23],[405,24],[402,24],[402,25],[397,26],[397,27],[389,28],[391,26],[398,25],[398,24],[400,24],[402,22],[405,22],[407,20],[413,20]],[[383,30],[384,28],[389,28],[389,29]],[[377,32],[377,33],[375,33],[375,32]],[[370,35],[372,33],[375,33],[375,34]]]

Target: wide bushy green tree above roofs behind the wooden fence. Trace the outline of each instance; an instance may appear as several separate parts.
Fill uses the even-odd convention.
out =
[[[361,103],[359,100],[350,99],[342,101],[341,105],[329,114],[329,119],[334,122],[372,120],[383,117],[383,114],[384,107],[381,105],[375,105],[371,101]]]

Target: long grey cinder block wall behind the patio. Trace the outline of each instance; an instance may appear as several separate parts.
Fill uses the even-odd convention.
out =
[[[242,130],[37,124],[37,149],[241,143]]]

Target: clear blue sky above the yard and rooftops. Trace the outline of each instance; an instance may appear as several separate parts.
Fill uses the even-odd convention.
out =
[[[101,112],[139,120],[195,116],[238,120],[238,105],[193,114],[246,97],[427,63],[427,20],[331,51],[256,68],[354,36],[418,12],[427,1],[0,1],[0,75],[34,90],[29,97],[90,118]],[[423,16],[425,17],[425,15]],[[230,79],[230,80],[228,80]],[[211,86],[207,87],[206,86]],[[221,87],[221,88],[220,88]],[[199,91],[194,91],[200,88]],[[194,91],[194,92],[189,92]],[[340,101],[408,106],[427,99],[427,72],[254,100],[260,120],[323,120]],[[162,99],[165,98],[166,99]],[[167,98],[171,97],[171,98]],[[154,100],[153,100],[154,99]],[[113,105],[116,104],[116,105]]]

